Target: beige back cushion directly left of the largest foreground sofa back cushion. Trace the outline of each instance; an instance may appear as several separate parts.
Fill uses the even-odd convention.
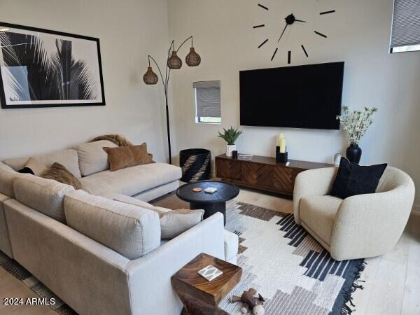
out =
[[[52,181],[52,179],[28,175],[24,178],[16,178],[13,181],[13,190],[15,199],[22,204],[61,223],[66,223],[63,207],[64,195],[74,191],[72,186]]]

